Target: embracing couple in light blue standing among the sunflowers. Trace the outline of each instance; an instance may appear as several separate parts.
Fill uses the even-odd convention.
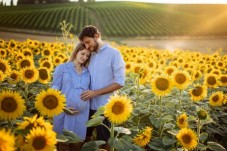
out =
[[[79,39],[69,61],[54,71],[52,88],[66,96],[66,107],[71,110],[70,114],[64,112],[54,117],[54,130],[59,134],[63,129],[73,131],[88,141],[94,127],[87,128],[86,122],[107,103],[115,90],[124,86],[125,62],[117,49],[101,40],[101,33],[95,26],[85,26]],[[110,127],[108,119],[103,123]],[[95,128],[97,140],[107,142],[109,130],[102,125]],[[104,148],[108,150],[108,144]]]

